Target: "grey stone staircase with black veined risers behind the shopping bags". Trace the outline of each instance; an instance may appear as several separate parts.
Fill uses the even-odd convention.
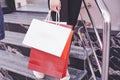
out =
[[[22,45],[25,33],[30,25],[32,18],[40,20],[45,19],[46,13],[27,13],[27,12],[13,12],[5,14],[5,39],[1,40],[0,50],[0,67],[18,75],[26,76],[31,79],[36,79],[32,71],[27,68],[29,60],[28,46]],[[24,19],[23,19],[24,18]],[[11,48],[9,48],[11,47]],[[26,50],[26,52],[23,52]],[[84,80],[87,76],[87,71],[84,70],[84,61],[87,57],[84,55],[82,47],[71,46],[69,73],[70,80]],[[76,51],[74,49],[77,49]],[[89,55],[91,49],[87,49]],[[74,62],[75,61],[75,62]],[[75,66],[78,64],[77,66]],[[44,80],[58,80],[56,78],[45,76]]]

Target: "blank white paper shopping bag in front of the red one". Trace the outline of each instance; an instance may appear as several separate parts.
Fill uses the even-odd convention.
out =
[[[70,28],[33,19],[23,44],[60,57],[70,32]]]

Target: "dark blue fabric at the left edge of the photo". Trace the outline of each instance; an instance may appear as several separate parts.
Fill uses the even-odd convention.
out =
[[[5,32],[4,32],[4,19],[3,19],[3,13],[2,13],[2,8],[0,6],[0,40],[5,37]]]

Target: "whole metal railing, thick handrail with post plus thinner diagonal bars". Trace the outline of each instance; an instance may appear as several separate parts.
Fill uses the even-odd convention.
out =
[[[99,42],[99,45],[100,45],[100,48],[101,50],[103,51],[102,53],[102,67],[100,66],[100,63],[98,61],[98,58],[97,58],[97,55],[95,53],[95,50],[94,50],[94,47],[92,45],[92,42],[91,42],[91,39],[90,39],[90,36],[88,34],[88,31],[86,30],[86,36],[90,42],[90,46],[92,48],[92,51],[93,51],[93,54],[95,56],[95,59],[96,59],[96,62],[97,62],[97,65],[98,65],[98,69],[99,69],[99,72],[101,74],[101,79],[102,80],[108,80],[108,72],[109,72],[109,53],[110,53],[110,33],[111,33],[111,17],[110,17],[110,13],[109,13],[109,10],[106,6],[106,4],[104,3],[104,1],[102,0],[95,0],[95,3],[103,17],[103,21],[104,21],[104,27],[103,27],[103,42],[101,41],[100,39],[100,36],[99,36],[99,33],[94,25],[94,22],[93,22],[93,19],[92,19],[92,16],[87,8],[87,5],[86,5],[86,2],[83,0],[83,4],[85,6],[85,9],[87,11],[87,14],[88,14],[88,17],[91,21],[91,24],[92,24],[92,27],[95,31],[95,34],[96,34],[96,37],[98,39],[98,42]],[[82,19],[82,18],[81,18]],[[95,78],[95,75],[92,71],[92,76],[93,76],[93,79],[96,80]]]

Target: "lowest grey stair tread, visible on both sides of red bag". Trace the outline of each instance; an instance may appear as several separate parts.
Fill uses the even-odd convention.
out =
[[[28,60],[29,57],[0,50],[1,68],[35,79],[35,76],[32,74],[32,71],[27,69]],[[78,70],[71,67],[69,67],[68,70],[71,76],[71,80],[81,80],[87,74],[87,71]],[[58,80],[50,76],[46,76],[44,80],[48,80],[48,79]]]

